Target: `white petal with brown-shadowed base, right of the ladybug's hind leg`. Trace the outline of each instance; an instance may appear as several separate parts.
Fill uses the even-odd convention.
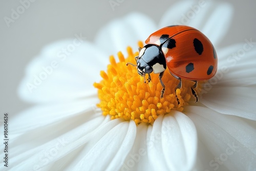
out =
[[[212,87],[200,94],[200,102],[226,115],[256,120],[255,87]]]

